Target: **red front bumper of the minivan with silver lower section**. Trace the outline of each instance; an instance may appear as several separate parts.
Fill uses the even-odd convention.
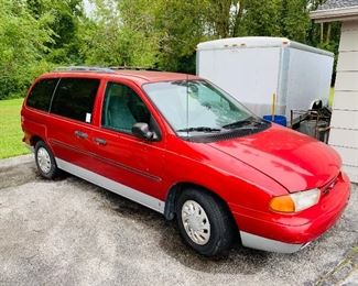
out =
[[[322,194],[319,202],[294,215],[234,210],[243,246],[280,252],[296,252],[317,239],[340,218],[350,196],[350,183],[341,173],[335,186]]]

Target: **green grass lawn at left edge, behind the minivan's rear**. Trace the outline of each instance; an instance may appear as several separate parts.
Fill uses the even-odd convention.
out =
[[[22,142],[20,110],[23,99],[0,100],[0,158],[29,153]]]

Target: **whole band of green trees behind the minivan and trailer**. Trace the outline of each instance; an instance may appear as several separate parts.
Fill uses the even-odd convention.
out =
[[[0,0],[0,98],[54,65],[195,73],[198,43],[286,36],[337,54],[340,24],[315,24],[324,0]]]

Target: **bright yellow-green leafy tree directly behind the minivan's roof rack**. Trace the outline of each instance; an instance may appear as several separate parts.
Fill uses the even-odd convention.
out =
[[[153,67],[159,36],[149,7],[148,0],[97,0],[94,19],[80,25],[86,64]]]

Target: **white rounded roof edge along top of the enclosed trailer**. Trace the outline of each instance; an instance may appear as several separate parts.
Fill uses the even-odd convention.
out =
[[[272,36],[243,36],[243,37],[228,37],[203,42],[197,45],[198,51],[203,50],[225,50],[225,48],[246,48],[246,47],[286,47],[294,48],[334,56],[333,53],[304,45],[286,37],[272,37]]]

